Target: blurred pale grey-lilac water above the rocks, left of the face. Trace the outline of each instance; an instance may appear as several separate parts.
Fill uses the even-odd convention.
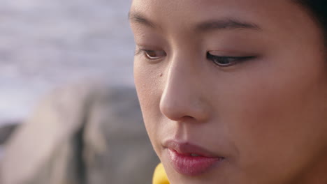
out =
[[[133,85],[130,3],[2,0],[0,125],[26,118],[41,95],[68,82]]]

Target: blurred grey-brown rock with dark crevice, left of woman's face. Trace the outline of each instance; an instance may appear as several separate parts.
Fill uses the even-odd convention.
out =
[[[158,162],[135,89],[80,84],[54,91],[14,132],[1,183],[144,184]]]

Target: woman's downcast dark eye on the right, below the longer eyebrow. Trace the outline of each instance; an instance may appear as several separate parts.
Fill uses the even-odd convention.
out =
[[[213,61],[217,66],[227,67],[233,66],[242,61],[253,59],[255,56],[216,56],[207,52],[207,59]]]

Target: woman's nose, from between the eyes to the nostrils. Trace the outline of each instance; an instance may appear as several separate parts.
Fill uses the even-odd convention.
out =
[[[172,59],[160,99],[161,113],[173,121],[203,122],[209,116],[201,67],[191,61]]]

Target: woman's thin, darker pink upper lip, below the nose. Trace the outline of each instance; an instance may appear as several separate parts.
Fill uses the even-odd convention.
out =
[[[182,155],[194,153],[207,158],[222,158],[221,156],[208,151],[206,148],[192,144],[189,141],[168,140],[164,142],[163,146]]]

